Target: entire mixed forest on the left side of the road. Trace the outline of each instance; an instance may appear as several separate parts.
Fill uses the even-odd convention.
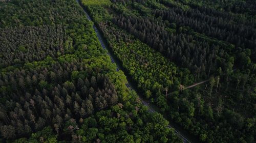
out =
[[[1,1],[0,19],[0,142],[182,142],[126,87],[76,1]]]

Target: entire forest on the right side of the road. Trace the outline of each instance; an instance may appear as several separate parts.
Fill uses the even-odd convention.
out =
[[[81,3],[138,94],[170,123],[199,142],[255,142],[254,1]]]

